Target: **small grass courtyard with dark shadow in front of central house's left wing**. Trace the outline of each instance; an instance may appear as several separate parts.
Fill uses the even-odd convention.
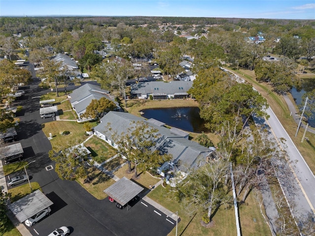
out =
[[[117,154],[112,146],[95,136],[86,141],[84,146],[91,151],[91,155],[97,163],[102,163]]]

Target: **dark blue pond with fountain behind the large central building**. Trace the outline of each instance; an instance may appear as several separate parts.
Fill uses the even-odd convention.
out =
[[[194,133],[201,133],[204,120],[199,116],[198,107],[154,108],[142,110],[143,117],[156,119],[166,125]]]

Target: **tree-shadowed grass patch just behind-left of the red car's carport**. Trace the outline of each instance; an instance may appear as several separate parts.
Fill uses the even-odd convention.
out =
[[[93,179],[90,183],[84,183],[84,178],[79,178],[76,181],[96,199],[102,200],[106,198],[107,195],[103,192],[103,190],[114,184],[115,180],[99,169],[91,168],[89,171],[91,171],[89,176]]]

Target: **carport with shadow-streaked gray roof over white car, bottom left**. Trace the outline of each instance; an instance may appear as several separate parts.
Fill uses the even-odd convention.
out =
[[[50,201],[45,194],[40,192],[40,190],[36,190],[24,198],[10,204],[9,209],[20,223],[23,223],[52,204],[54,203]]]

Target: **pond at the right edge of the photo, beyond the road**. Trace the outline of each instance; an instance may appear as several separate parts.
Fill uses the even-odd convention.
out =
[[[297,105],[301,104],[302,96],[315,89],[315,79],[303,79],[301,90],[297,90],[295,87],[291,89],[291,95]],[[309,125],[315,127],[315,112],[313,117],[309,119]]]

